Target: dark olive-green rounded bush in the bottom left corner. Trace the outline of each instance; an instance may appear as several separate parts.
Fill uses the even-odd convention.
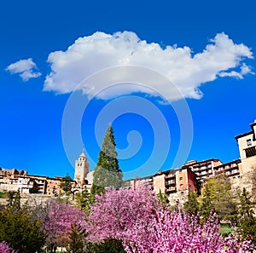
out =
[[[6,241],[14,250],[34,253],[44,245],[40,222],[32,221],[25,210],[13,212],[10,208],[0,212],[0,241]]]

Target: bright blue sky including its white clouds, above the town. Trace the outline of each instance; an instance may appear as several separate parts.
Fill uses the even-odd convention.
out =
[[[73,176],[84,146],[93,170],[109,122],[125,178],[239,158],[256,118],[253,0],[2,2],[1,167]]]

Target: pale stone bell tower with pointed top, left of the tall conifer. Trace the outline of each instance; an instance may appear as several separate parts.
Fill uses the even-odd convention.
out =
[[[85,184],[85,176],[89,172],[89,164],[84,154],[84,150],[79,155],[79,158],[75,162],[75,175],[74,180],[77,181],[78,187],[82,187]]]

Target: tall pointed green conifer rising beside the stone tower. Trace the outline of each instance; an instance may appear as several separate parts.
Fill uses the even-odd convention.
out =
[[[92,195],[104,192],[105,187],[119,189],[122,186],[123,173],[119,170],[115,146],[113,128],[109,124],[93,174],[93,184],[90,191]]]

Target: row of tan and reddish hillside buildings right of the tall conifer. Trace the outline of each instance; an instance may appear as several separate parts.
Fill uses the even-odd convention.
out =
[[[149,182],[154,193],[166,193],[172,204],[178,200],[184,203],[189,191],[200,189],[207,179],[214,175],[224,174],[230,178],[234,190],[248,186],[247,173],[256,170],[256,120],[250,124],[251,130],[237,135],[236,141],[240,158],[223,164],[218,158],[204,161],[190,160],[181,169],[159,171],[157,174],[142,179],[130,180],[135,187],[140,181]]]

